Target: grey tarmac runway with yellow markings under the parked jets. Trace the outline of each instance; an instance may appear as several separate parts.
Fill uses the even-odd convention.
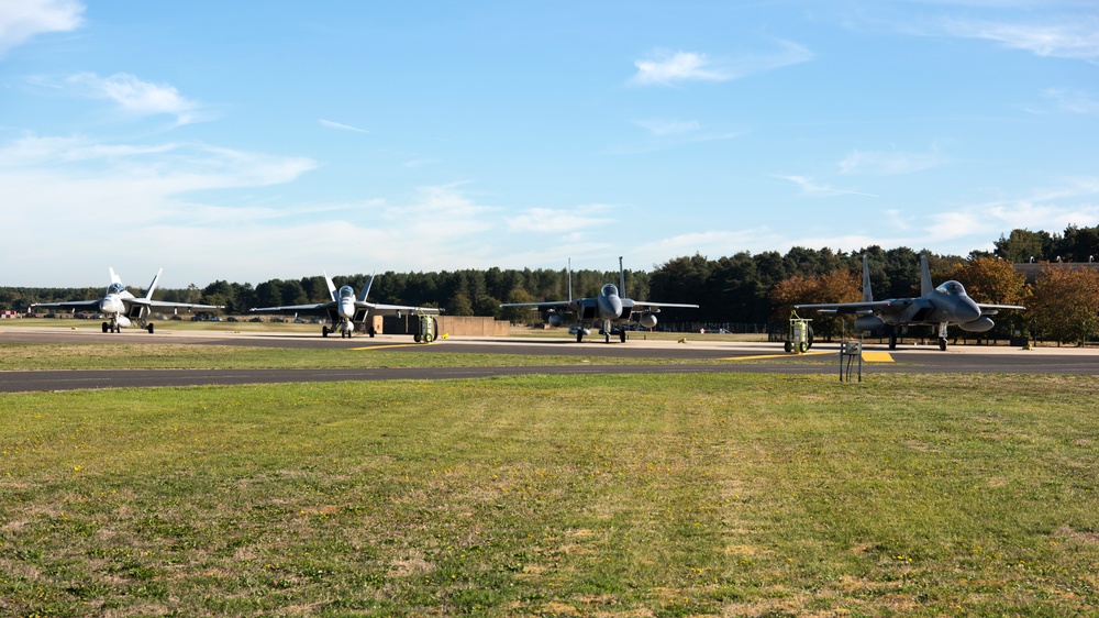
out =
[[[219,332],[157,330],[103,334],[91,329],[8,328],[0,330],[0,345],[157,343],[179,345],[253,345],[267,347],[328,347],[369,353],[471,353],[571,356],[576,364],[490,367],[400,368],[292,368],[292,369],[73,369],[0,372],[0,393],[71,390],[81,388],[141,388],[162,386],[277,384],[293,382],[342,382],[389,379],[459,379],[513,375],[626,375],[691,373],[769,373],[840,375],[839,344],[818,343],[809,354],[782,353],[777,343],[741,343],[687,335],[679,341],[652,341],[634,336],[628,343],[601,341],[576,343],[571,339],[454,338],[430,345],[410,336],[379,335],[370,339],[321,338],[307,333]],[[1099,350],[954,345],[942,352],[933,345],[885,345],[865,349],[864,376],[882,373],[1030,373],[1099,375]],[[675,364],[601,365],[592,357],[663,358]],[[698,361],[691,364],[690,361]]]

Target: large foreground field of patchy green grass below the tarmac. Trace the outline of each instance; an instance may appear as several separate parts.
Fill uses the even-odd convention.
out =
[[[1088,615],[1099,380],[0,396],[0,615]]]

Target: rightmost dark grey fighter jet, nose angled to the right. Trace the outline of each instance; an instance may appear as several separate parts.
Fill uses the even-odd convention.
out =
[[[956,324],[964,331],[986,332],[995,324],[989,316],[1000,309],[1025,309],[1018,305],[989,305],[977,302],[965,293],[962,284],[951,280],[939,287],[931,283],[926,252],[920,253],[920,294],[915,298],[874,300],[870,291],[870,269],[863,255],[863,301],[795,305],[795,309],[817,309],[821,313],[855,316],[855,329],[884,333],[889,338],[889,349],[897,347],[897,335],[906,334],[912,325],[939,329],[939,349],[946,351],[946,329]]]

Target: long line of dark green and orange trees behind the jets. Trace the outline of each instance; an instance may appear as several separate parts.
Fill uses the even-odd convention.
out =
[[[1032,336],[1048,336],[1056,341],[1076,341],[1078,334],[1065,334],[1073,329],[1095,334],[1095,298],[1088,297],[1094,271],[1057,271],[1048,273],[1034,286],[1028,286],[1014,274],[1012,263],[1088,262],[1099,255],[1099,227],[1068,227],[1063,233],[1013,230],[993,243],[991,252],[974,251],[966,257],[929,254],[932,278],[936,284],[956,279],[978,301],[1028,305],[1033,297],[1034,308],[1024,317],[1002,312],[992,336],[1007,336],[1011,331],[1028,332]],[[693,330],[700,324],[763,324],[784,321],[790,306],[797,302],[842,302],[862,298],[862,256],[869,260],[870,282],[875,298],[919,296],[920,255],[909,247],[882,249],[874,245],[846,253],[830,249],[793,247],[785,254],[770,251],[753,254],[747,251],[710,260],[700,254],[681,256],[657,265],[652,272],[626,271],[624,293],[632,298],[665,302],[697,304],[699,309],[665,310],[664,324],[679,324]],[[1001,266],[997,268],[996,263]],[[979,265],[979,268],[974,265]],[[1051,271],[1052,272],[1052,271]],[[996,274],[996,278],[992,274]],[[1014,274],[1018,275],[1018,274]],[[985,277],[978,279],[978,277]],[[336,276],[336,286],[349,285],[360,293],[368,275]],[[1062,282],[1061,279],[1066,279]],[[619,283],[615,271],[574,271],[574,297],[596,296],[606,283]],[[1044,283],[1043,283],[1044,282]],[[1054,305],[1045,302],[1040,291],[1055,285],[1068,286],[1084,295],[1078,301],[1077,317],[1048,316]],[[131,289],[135,295],[138,289]],[[0,307],[26,310],[32,302],[92,299],[102,296],[101,288],[0,288]],[[535,302],[568,298],[569,275],[560,269],[462,269],[440,273],[386,272],[374,278],[369,300],[392,305],[421,305],[443,307],[451,316],[481,316],[523,322],[535,319],[530,309],[501,308],[504,302]],[[1064,294],[1064,293],[1062,293]],[[801,295],[801,296],[798,296]],[[1099,296],[1099,293],[1096,293]],[[229,313],[246,313],[253,307],[303,305],[329,300],[323,277],[301,279],[270,279],[253,287],[218,280],[204,288],[193,284],[182,289],[157,290],[156,297],[176,302],[224,305]],[[1054,296],[1053,298],[1057,298]],[[1044,305],[1043,305],[1044,302]],[[1045,309],[1040,309],[1045,307]],[[1043,313],[1044,311],[1044,313]],[[1041,323],[1026,322],[1043,316]],[[807,316],[814,319],[814,328],[822,334],[839,329],[839,322],[825,316]],[[1065,323],[1053,327],[1053,323]],[[1062,339],[1064,338],[1064,339]],[[1074,339],[1076,338],[1076,339]]]

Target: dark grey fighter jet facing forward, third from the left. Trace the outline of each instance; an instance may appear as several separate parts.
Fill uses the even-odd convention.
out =
[[[621,290],[621,294],[620,291]],[[564,321],[562,312],[574,313],[579,321],[576,325],[576,342],[584,341],[584,336],[591,334],[591,325],[599,324],[599,334],[606,336],[606,343],[611,342],[611,333],[618,332],[619,340],[625,343],[625,322],[636,322],[637,324],[651,329],[656,325],[656,313],[662,308],[684,308],[698,309],[698,305],[680,305],[676,302],[651,302],[647,300],[634,300],[625,296],[625,271],[622,268],[622,258],[619,257],[619,285],[603,284],[599,290],[599,296],[593,298],[573,298],[573,273],[569,267],[568,275],[568,300],[550,300],[546,302],[507,302],[500,307],[532,307],[539,311],[548,313],[548,322],[552,327],[559,327]],[[618,325],[614,325],[618,324]]]

